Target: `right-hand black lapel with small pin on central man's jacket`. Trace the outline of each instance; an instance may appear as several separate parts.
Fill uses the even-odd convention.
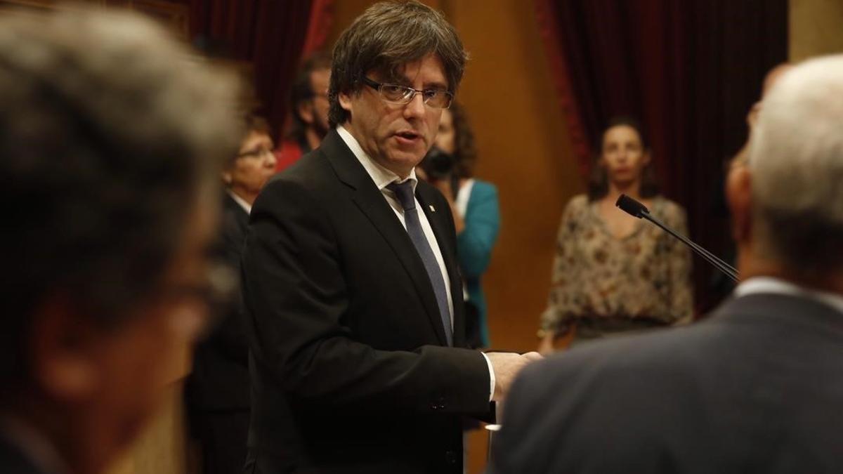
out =
[[[425,183],[419,182],[416,186],[416,199],[421,204],[421,209],[427,216],[427,222],[433,229],[433,235],[439,245],[439,251],[445,261],[445,268],[448,269],[450,280],[451,300],[454,304],[454,347],[459,347],[465,340],[465,321],[463,314],[463,279],[459,275],[459,266],[454,258],[457,255],[456,249],[452,248],[453,237],[449,236],[448,225],[445,223],[448,209],[440,209],[435,206],[433,194],[435,191]]]

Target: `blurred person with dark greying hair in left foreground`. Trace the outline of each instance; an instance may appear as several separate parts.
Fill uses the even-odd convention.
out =
[[[148,19],[0,19],[0,471],[105,471],[224,288],[206,258],[228,76]],[[209,204],[210,203],[210,204]]]

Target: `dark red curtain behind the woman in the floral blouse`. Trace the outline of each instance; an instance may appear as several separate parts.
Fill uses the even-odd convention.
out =
[[[643,121],[663,193],[691,235],[728,253],[724,159],[766,71],[787,59],[787,0],[535,0],[556,89],[584,169],[611,116]],[[697,301],[713,272],[695,261]]]

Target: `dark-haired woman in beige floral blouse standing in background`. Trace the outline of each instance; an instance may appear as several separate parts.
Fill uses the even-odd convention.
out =
[[[588,196],[565,207],[553,281],[541,316],[540,351],[574,329],[574,343],[688,320],[692,314],[690,250],[657,227],[615,207],[621,193],[687,234],[685,210],[658,195],[641,127],[610,121]]]

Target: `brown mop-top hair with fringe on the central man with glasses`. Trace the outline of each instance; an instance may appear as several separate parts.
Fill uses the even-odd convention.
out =
[[[399,78],[408,62],[436,54],[442,61],[448,89],[456,92],[463,78],[466,55],[456,30],[442,13],[415,1],[375,3],[336,40],[328,98],[330,127],[348,120],[339,94],[358,93],[362,76],[377,71]]]

